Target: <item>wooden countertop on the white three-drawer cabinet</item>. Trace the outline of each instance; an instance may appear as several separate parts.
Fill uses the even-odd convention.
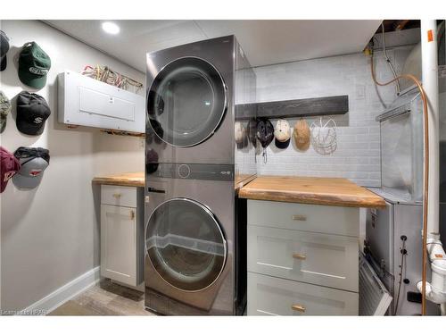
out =
[[[343,178],[258,176],[238,197],[290,203],[382,208],[384,199]]]

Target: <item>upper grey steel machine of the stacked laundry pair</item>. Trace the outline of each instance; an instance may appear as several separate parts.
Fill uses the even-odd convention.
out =
[[[255,75],[234,36],[147,54],[146,81],[153,161],[235,163],[235,104],[255,102]]]

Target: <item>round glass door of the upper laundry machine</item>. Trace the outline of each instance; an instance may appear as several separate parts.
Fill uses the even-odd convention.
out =
[[[180,58],[153,80],[147,113],[153,131],[176,147],[193,147],[211,137],[227,109],[219,71],[201,58]]]

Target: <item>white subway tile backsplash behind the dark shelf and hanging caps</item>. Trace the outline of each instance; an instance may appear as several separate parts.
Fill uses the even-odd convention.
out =
[[[395,70],[401,73],[412,46],[387,51]],[[382,52],[375,54],[376,77],[392,79]],[[377,88],[370,75],[370,57],[362,53],[254,68],[257,76],[256,101],[277,101],[319,96],[349,96],[349,113],[333,116],[337,128],[337,149],[319,155],[312,146],[301,152],[290,143],[278,149],[274,141],[263,163],[258,147],[257,173],[319,177],[343,177],[359,185],[381,185],[380,130],[376,115],[396,97],[395,86]],[[323,116],[328,121],[331,116]],[[304,118],[309,125],[316,118]],[[272,120],[276,125],[277,120]],[[297,119],[289,119],[293,127]]]

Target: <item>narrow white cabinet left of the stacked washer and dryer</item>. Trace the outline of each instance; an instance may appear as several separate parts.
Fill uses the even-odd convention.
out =
[[[103,185],[101,190],[101,275],[137,286],[144,277],[142,191]]]

